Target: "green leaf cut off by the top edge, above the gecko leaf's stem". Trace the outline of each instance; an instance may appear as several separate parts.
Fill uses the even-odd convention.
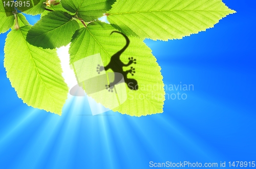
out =
[[[61,0],[62,6],[86,22],[95,20],[103,16],[106,11],[111,9],[115,0]]]

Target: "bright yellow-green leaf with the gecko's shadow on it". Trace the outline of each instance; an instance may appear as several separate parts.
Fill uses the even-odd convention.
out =
[[[80,62],[80,65],[76,64],[81,59],[100,53],[103,66],[106,66],[110,62],[112,55],[125,45],[124,37],[117,33],[110,35],[112,31],[115,31],[114,27],[99,21],[90,23],[86,28],[76,31],[69,53],[71,58],[70,64],[73,65],[77,78],[84,76],[86,73],[89,75],[97,73],[97,66],[91,66],[96,57],[91,62]],[[143,40],[135,37],[130,37],[129,39],[130,45],[121,54],[120,60],[126,64],[129,62],[129,58],[133,57],[136,59],[137,63],[131,65],[136,69],[136,73],[134,76],[129,74],[127,77],[136,79],[139,89],[130,90],[126,84],[122,83],[125,85],[125,88],[124,90],[120,88],[122,91],[119,91],[121,94],[118,94],[117,97],[120,101],[123,98],[123,94],[125,94],[123,92],[126,91],[127,100],[113,110],[121,114],[138,117],[163,112],[165,93],[160,72],[161,68],[157,64],[156,58],[152,55],[151,49],[146,46]],[[122,67],[119,68],[122,69]],[[124,67],[123,71],[129,69],[130,66]],[[108,81],[112,81],[110,77]],[[78,82],[80,83],[79,79]],[[95,81],[92,81],[93,86],[97,86],[97,84]],[[87,88],[84,89],[97,102],[100,102],[105,107],[113,108],[113,102],[115,101],[112,97],[113,94],[108,90],[104,89],[99,93],[89,94],[90,91]]]

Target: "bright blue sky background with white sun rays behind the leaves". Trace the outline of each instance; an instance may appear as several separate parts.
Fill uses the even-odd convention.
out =
[[[145,40],[166,85],[194,85],[186,100],[141,118],[89,116],[69,96],[61,117],[28,107],[6,77],[0,35],[0,168],[148,168],[149,162],[256,161],[255,2],[225,0],[237,11],[214,29],[182,40]],[[31,24],[35,17],[28,16]],[[177,91],[166,91],[173,94]]]

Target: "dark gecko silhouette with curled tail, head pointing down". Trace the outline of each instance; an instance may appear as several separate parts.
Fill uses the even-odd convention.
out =
[[[113,92],[114,86],[117,85],[120,82],[120,74],[122,74],[122,76],[124,78],[124,82],[127,84],[129,89],[131,89],[131,90],[138,90],[139,87],[138,87],[137,80],[135,80],[133,78],[127,78],[128,73],[131,73],[132,75],[134,75],[135,68],[131,67],[130,70],[123,71],[123,67],[128,67],[128,66],[132,65],[133,63],[136,64],[136,59],[133,59],[133,57],[129,58],[129,62],[127,64],[124,64],[120,60],[120,56],[125,51],[125,49],[129,46],[130,40],[123,33],[120,33],[120,32],[117,32],[117,31],[113,31],[110,35],[112,35],[113,33],[121,34],[125,38],[126,44],[125,44],[125,46],[121,50],[116,52],[111,57],[110,62],[109,62],[108,65],[106,65],[105,67],[98,65],[97,72],[98,72],[98,74],[100,74],[100,72],[103,71],[103,70],[107,71],[109,69],[112,69],[112,71],[114,72],[114,81],[111,82],[109,85],[105,85],[106,89],[111,91],[111,92]]]

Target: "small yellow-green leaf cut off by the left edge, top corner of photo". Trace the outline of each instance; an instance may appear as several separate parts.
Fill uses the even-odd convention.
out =
[[[7,32],[12,27],[14,19],[12,12],[6,11],[3,3],[0,2],[0,34]]]

